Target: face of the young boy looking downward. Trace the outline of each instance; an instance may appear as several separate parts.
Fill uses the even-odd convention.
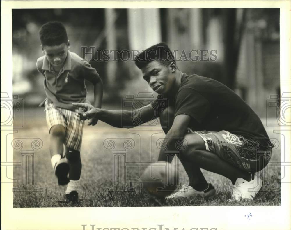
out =
[[[61,67],[65,63],[65,59],[70,49],[70,44],[62,43],[61,45],[42,46],[42,50],[47,57],[47,60],[56,67]]]

